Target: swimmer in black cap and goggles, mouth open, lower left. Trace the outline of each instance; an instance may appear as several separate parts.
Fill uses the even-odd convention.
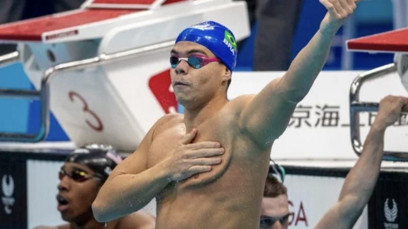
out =
[[[91,204],[112,170],[122,158],[109,145],[86,145],[74,150],[59,171],[58,211],[69,224],[40,228],[155,228],[155,218],[136,212],[117,220],[100,223],[93,217]],[[45,216],[44,216],[45,217]]]

